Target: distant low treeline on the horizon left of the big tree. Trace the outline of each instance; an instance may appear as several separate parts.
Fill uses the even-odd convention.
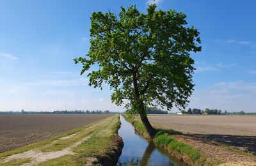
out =
[[[119,114],[119,112],[110,112],[109,110],[55,110],[53,112],[50,111],[8,111],[8,112],[0,112],[0,114]]]

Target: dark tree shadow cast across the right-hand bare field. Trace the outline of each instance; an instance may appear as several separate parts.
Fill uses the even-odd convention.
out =
[[[212,140],[221,144],[241,149],[245,152],[256,155],[256,137],[255,136],[241,136],[241,135],[215,135],[215,134],[193,134],[193,137],[198,139]]]

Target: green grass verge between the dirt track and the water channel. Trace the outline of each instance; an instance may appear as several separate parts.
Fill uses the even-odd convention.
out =
[[[111,117],[109,123],[105,124],[104,126],[94,128],[92,137],[90,137],[90,139],[84,141],[72,149],[75,155],[61,156],[60,158],[42,162],[39,165],[80,166],[88,162],[88,158],[100,159],[108,156],[109,152],[115,149],[116,144],[113,139],[116,139],[120,124],[121,123],[118,116]]]

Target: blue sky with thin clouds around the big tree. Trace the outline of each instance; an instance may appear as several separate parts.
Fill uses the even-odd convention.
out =
[[[88,86],[74,57],[90,48],[90,15],[151,1],[0,0],[0,111],[109,109],[108,86]],[[157,8],[186,13],[200,31],[193,54],[196,84],[189,107],[256,112],[256,1],[157,0]],[[176,109],[173,109],[175,111]]]

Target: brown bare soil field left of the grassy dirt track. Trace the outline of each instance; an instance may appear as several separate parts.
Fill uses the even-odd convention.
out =
[[[0,153],[109,116],[111,115],[0,115]]]

